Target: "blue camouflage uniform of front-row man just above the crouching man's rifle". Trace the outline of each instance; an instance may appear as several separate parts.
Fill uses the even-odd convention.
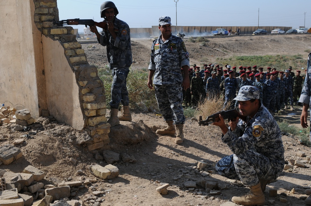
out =
[[[230,79],[230,77],[225,78],[225,103],[224,108],[227,106],[227,104],[230,102],[229,109],[234,108],[233,99],[236,97],[236,87],[237,87],[237,81],[236,78]]]

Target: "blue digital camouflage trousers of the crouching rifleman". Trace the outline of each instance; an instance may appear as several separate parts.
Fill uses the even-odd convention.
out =
[[[254,186],[258,184],[258,178],[276,179],[282,172],[284,163],[273,164],[266,156],[247,150],[239,155],[233,154],[223,157],[216,163],[215,167],[221,176],[241,180],[246,186]]]

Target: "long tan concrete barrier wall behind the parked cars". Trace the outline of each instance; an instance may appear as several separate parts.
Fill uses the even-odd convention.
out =
[[[152,28],[131,28],[131,37],[148,37],[149,36],[159,36],[159,26],[152,26]],[[240,34],[253,34],[254,31],[257,30],[257,26],[173,26],[172,25],[172,33],[177,34],[179,31],[180,33],[185,33],[186,35],[193,35],[193,34],[202,34],[208,35],[212,31],[215,31],[218,28],[223,28],[229,30],[231,28],[231,31],[235,32],[238,31],[238,28],[240,28]],[[260,29],[267,30],[267,33],[270,34],[273,29],[279,28],[284,30],[285,32],[292,27],[285,27],[285,26],[260,26]]]

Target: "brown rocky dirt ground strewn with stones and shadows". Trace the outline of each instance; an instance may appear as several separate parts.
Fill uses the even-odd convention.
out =
[[[265,54],[303,54],[310,49],[307,44],[311,35],[275,35],[248,36],[230,38],[212,38],[208,47],[186,42],[191,53],[191,63],[201,63],[207,57],[209,62],[217,57],[235,55],[265,55]],[[133,69],[147,68],[149,62],[150,39],[132,39]],[[106,62],[105,49],[94,44],[83,44],[87,60],[90,64],[104,67]],[[225,47],[228,53],[221,52]],[[204,62],[207,63],[207,62]],[[292,126],[299,127],[301,107],[295,106],[296,111],[285,110],[276,119],[289,120]],[[215,111],[216,112],[216,111]],[[71,127],[50,119],[49,124],[43,125],[43,119],[36,120],[33,129],[37,133],[16,132],[14,124],[0,126],[0,146],[13,143],[25,134],[25,141],[16,145],[23,157],[9,165],[0,165],[0,169],[21,172],[26,166],[33,165],[42,170],[46,177],[44,184],[58,184],[64,181],[91,180],[91,184],[76,191],[73,199],[84,200],[86,205],[215,205],[219,206],[230,201],[232,196],[241,195],[248,191],[239,182],[233,182],[213,172],[213,165],[231,151],[220,140],[221,132],[213,125],[199,126],[197,121],[186,119],[184,126],[185,140],[181,145],[174,143],[174,137],[158,136],[153,131],[164,128],[163,119],[156,114],[132,110],[132,122],[121,122],[111,128],[109,137],[111,149],[121,155],[132,156],[132,163],[120,159],[114,163],[120,170],[119,177],[112,180],[95,178],[89,170],[90,165],[106,165],[102,160],[102,151],[90,152],[72,141],[79,133]],[[41,125],[41,126],[40,126]],[[301,127],[301,126],[300,126]],[[39,128],[39,129],[38,129]],[[299,144],[297,137],[282,136],[285,148],[285,160],[305,160],[298,152],[311,156],[310,148]],[[70,161],[70,158],[77,160]],[[203,160],[208,165],[198,169],[197,161]],[[290,163],[289,163],[290,164]],[[304,205],[304,191],[311,186],[309,163],[305,168],[294,168],[292,172],[283,171],[276,182],[267,186],[265,192],[266,205]],[[202,187],[202,178],[216,181],[216,190],[210,191]],[[195,182],[194,185],[193,181]],[[156,188],[169,183],[168,194],[161,195]],[[189,185],[188,185],[189,184]],[[291,190],[295,188],[295,193]],[[276,189],[278,196],[270,197],[269,190]],[[92,195],[93,191],[102,191],[100,195]],[[281,197],[285,202],[280,201]],[[287,196],[285,196],[287,195]],[[227,203],[228,204],[228,203]]]

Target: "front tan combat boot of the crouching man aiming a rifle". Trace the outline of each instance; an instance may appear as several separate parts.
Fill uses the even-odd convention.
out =
[[[239,197],[232,197],[232,202],[245,206],[257,205],[261,206],[265,204],[265,195],[263,195],[260,181],[257,185],[249,187],[250,191],[245,195]]]

